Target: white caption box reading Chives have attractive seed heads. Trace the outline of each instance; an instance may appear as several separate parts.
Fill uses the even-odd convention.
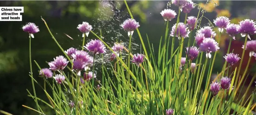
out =
[[[22,15],[24,13],[24,7],[0,7],[0,21],[22,21]]]

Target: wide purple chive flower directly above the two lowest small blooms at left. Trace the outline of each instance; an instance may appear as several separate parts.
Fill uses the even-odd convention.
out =
[[[66,65],[68,64],[69,61],[66,60],[65,57],[63,56],[58,56],[54,58],[54,61],[49,62],[50,70],[64,70]]]

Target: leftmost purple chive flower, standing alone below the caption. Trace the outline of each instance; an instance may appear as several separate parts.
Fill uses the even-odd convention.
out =
[[[24,32],[28,32],[29,33],[29,36],[31,36],[32,38],[34,38],[34,33],[37,33],[39,32],[39,28],[38,26],[36,26],[34,23],[27,23],[25,26],[22,27],[22,30]]]

